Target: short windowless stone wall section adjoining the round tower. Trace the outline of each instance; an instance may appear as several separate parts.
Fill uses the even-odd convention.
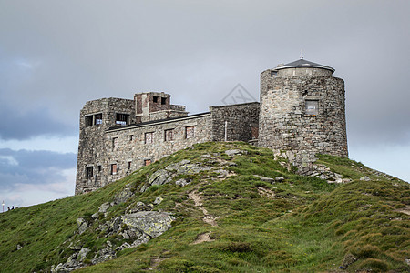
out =
[[[211,106],[212,141],[225,140],[225,122],[228,141],[249,141],[259,126],[259,103],[231,106]],[[256,136],[257,138],[257,136]]]

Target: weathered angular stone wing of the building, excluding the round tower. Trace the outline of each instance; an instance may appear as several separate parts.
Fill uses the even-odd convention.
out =
[[[170,97],[154,92],[135,96],[136,101],[148,102],[145,113],[134,111],[138,102],[133,100],[104,98],[87,102],[80,115],[76,194],[104,187],[193,144],[221,141],[225,131],[229,140],[251,140],[252,128],[258,126],[259,103],[210,107],[210,112],[187,116],[184,106],[152,106],[152,97],[160,94]],[[161,102],[157,99],[156,103]],[[102,121],[96,122],[99,113]],[[118,116],[127,121],[116,120],[118,113],[129,115]],[[87,116],[93,117],[88,125]],[[138,116],[146,121],[139,122]]]

